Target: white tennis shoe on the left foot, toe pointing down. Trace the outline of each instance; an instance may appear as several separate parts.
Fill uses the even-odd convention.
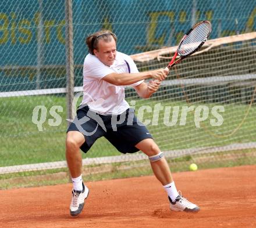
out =
[[[83,191],[75,191],[72,190],[72,200],[70,204],[70,215],[77,216],[81,213],[84,208],[84,200],[88,197],[89,189],[84,186],[83,183]]]

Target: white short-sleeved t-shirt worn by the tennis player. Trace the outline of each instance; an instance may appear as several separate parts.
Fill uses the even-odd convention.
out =
[[[116,59],[110,67],[99,61],[98,57],[88,54],[84,59],[81,104],[87,104],[91,110],[103,115],[123,113],[130,107],[125,100],[125,86],[113,85],[102,78],[111,73],[129,73],[129,68],[130,73],[138,73],[134,61],[124,53],[116,52]],[[131,86],[140,85],[143,81]]]

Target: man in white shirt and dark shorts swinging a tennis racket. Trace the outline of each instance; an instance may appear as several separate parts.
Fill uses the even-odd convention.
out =
[[[148,156],[152,171],[168,194],[170,209],[197,212],[200,208],[176,190],[163,153],[125,100],[124,86],[133,86],[138,96],[148,98],[158,90],[169,70],[139,73],[131,57],[116,50],[116,41],[116,35],[108,30],[95,32],[86,39],[90,53],[84,59],[83,101],[66,137],[66,161],[73,181],[70,215],[81,213],[89,194],[81,176],[80,149],[87,153],[102,136],[121,153],[141,150]],[[150,78],[153,80],[144,81]]]

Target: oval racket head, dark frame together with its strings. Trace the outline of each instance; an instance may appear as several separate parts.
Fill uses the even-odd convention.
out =
[[[184,35],[182,41],[177,48],[177,53],[180,57],[186,57],[192,55],[207,41],[212,31],[211,22],[203,20],[195,24]]]

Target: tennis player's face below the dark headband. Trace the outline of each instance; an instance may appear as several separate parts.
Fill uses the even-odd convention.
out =
[[[116,42],[112,39],[111,42],[105,42],[100,39],[98,42],[98,50],[94,49],[94,55],[106,66],[111,66],[116,58]]]

